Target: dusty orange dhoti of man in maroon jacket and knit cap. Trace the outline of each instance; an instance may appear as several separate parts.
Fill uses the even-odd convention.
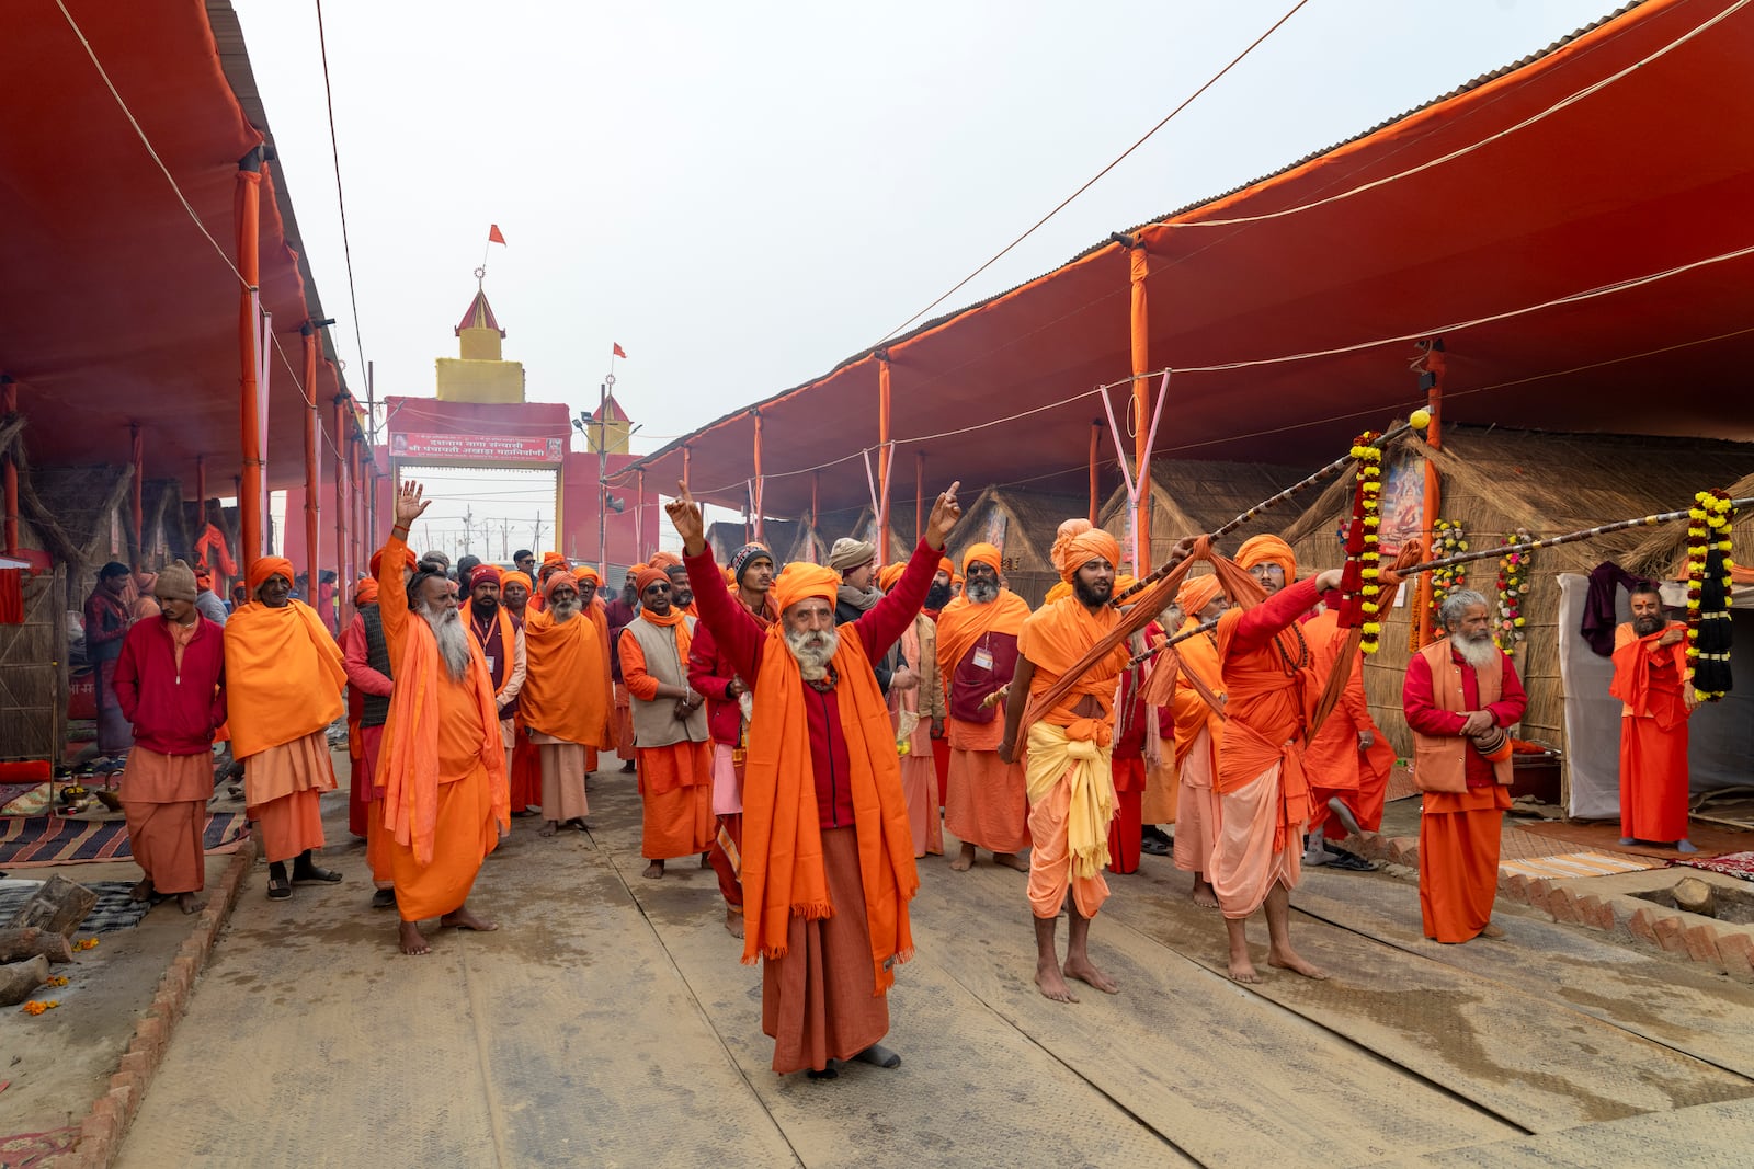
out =
[[[212,789],[210,754],[161,755],[139,745],[128,752],[121,775],[128,850],[153,892],[193,894],[207,885],[202,831]]]

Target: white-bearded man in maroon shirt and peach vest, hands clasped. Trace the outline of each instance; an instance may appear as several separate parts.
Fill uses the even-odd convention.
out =
[[[1438,608],[1444,631],[1407,664],[1401,706],[1414,733],[1419,913],[1426,938],[1501,938],[1493,925],[1498,843],[1510,806],[1510,736],[1528,698],[1493,643],[1486,598],[1458,589]]]

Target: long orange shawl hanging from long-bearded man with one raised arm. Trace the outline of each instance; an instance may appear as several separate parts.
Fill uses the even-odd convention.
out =
[[[384,789],[384,829],[396,834],[398,845],[414,848],[417,864],[431,864],[438,829],[438,687],[444,685],[444,664],[438,661],[438,640],[426,619],[407,613],[403,624],[407,634],[402,661],[396,662],[396,687],[389,694],[375,783]],[[500,736],[493,680],[475,638],[468,638],[468,680],[460,685],[468,685],[481,706],[481,766],[488,769],[493,790],[493,818],[502,829],[509,829],[512,810],[505,740]]]

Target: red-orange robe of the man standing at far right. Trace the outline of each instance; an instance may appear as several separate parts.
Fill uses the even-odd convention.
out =
[[[1621,836],[1670,843],[1687,838],[1687,641],[1658,645],[1670,622],[1640,638],[1614,631],[1614,684],[1621,699]]]

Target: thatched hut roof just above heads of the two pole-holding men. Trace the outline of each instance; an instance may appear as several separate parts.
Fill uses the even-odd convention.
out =
[[[1219,463],[1198,459],[1151,461],[1151,564],[1161,564],[1175,542],[1212,531],[1242,515],[1261,499],[1279,494],[1305,478],[1310,470],[1273,463]],[[1296,517],[1294,503],[1282,512],[1244,524],[1230,538],[1226,550],[1263,531],[1279,531]],[[1131,561],[1126,535],[1126,487],[1116,489],[1102,507],[1102,526],[1121,542],[1121,557]],[[1131,568],[1131,564],[1128,564]]]

